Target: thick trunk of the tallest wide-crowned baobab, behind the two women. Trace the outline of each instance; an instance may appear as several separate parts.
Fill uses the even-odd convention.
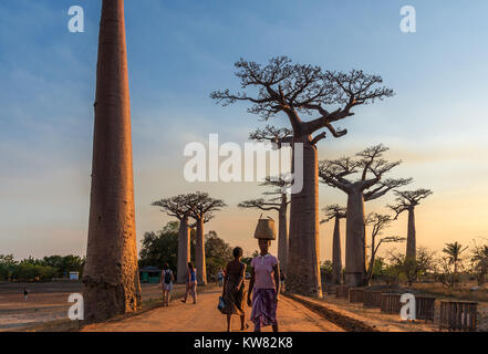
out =
[[[303,143],[303,189],[291,195],[287,290],[321,298],[316,148],[310,144],[308,136],[295,143]],[[293,153],[293,160],[295,155]]]

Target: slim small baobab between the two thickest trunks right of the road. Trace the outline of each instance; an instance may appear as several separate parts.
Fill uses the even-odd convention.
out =
[[[326,206],[323,211],[325,219],[320,223],[334,219],[334,236],[332,238],[332,283],[341,284],[342,280],[342,250],[341,250],[341,219],[345,219],[346,209],[336,204]]]

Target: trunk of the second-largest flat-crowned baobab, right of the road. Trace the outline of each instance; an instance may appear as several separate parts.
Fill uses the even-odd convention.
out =
[[[347,287],[361,287],[365,282],[365,242],[363,191],[352,190],[347,195],[345,236],[345,284]]]

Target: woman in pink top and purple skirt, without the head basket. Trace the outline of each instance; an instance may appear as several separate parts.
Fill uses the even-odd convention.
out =
[[[273,332],[278,332],[280,266],[278,259],[268,252],[270,244],[270,240],[259,239],[261,253],[251,261],[248,305],[252,305],[251,321],[255,323],[255,332],[261,332],[261,327],[267,325],[271,325]]]

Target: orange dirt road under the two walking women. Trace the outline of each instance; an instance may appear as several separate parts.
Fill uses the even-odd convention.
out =
[[[141,315],[128,317],[118,322],[98,323],[89,325],[84,331],[100,332],[222,332],[226,331],[226,316],[217,310],[220,289],[207,290],[199,294],[198,303],[191,301],[183,303],[175,300],[169,308],[155,309]],[[249,319],[250,309],[247,309]],[[239,319],[232,316],[232,329],[238,330]],[[320,315],[308,310],[302,304],[280,298],[278,304],[278,321],[280,332],[334,332],[343,330],[325,321]],[[252,323],[248,320],[249,329]],[[263,332],[271,331],[264,327]]]

